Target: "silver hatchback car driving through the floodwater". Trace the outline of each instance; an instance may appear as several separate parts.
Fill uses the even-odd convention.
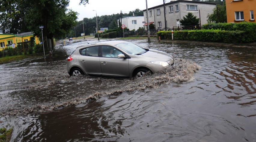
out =
[[[174,66],[174,58],[162,51],[141,48],[126,41],[105,41],[76,48],[68,57],[70,76],[133,78]]]

